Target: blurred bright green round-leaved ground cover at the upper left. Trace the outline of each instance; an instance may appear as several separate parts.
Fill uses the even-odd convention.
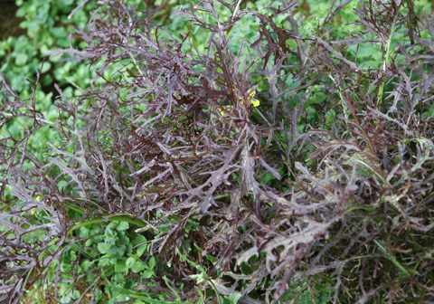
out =
[[[70,32],[73,26],[85,27],[89,19],[89,11],[95,5],[85,5],[80,12],[68,18],[78,1],[16,1],[4,2],[5,8],[16,9],[14,23],[5,27],[4,33],[14,33],[14,28],[21,29],[20,35],[10,35],[0,41],[0,71],[9,80],[11,88],[21,100],[33,97],[35,109],[42,113],[44,119],[54,123],[58,111],[53,106],[57,90],[54,83],[59,85],[68,96],[80,87],[87,87],[94,76],[84,64],[74,65],[73,62],[56,62],[45,56],[45,52],[52,48],[67,47],[70,43]],[[9,13],[9,11],[8,11]],[[6,18],[3,16],[2,18]],[[25,34],[24,34],[25,33]],[[82,42],[77,41],[80,47]],[[43,63],[42,63],[43,62]],[[41,73],[38,86],[33,92],[36,71]],[[33,96],[34,94],[34,96]],[[9,119],[0,134],[2,138],[12,135],[23,138],[23,120]],[[28,145],[35,157],[42,159],[41,151],[47,146],[47,141],[56,141],[57,132],[48,125],[42,127]],[[26,169],[27,163],[24,164]]]

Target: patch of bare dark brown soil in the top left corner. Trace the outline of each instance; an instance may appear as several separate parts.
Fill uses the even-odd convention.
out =
[[[24,18],[15,16],[18,6],[14,1],[0,1],[0,40],[18,37],[27,31],[20,28]]]

